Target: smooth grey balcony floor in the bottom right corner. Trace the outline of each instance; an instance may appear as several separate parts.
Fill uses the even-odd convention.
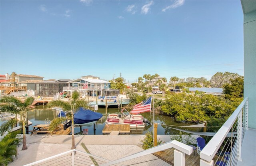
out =
[[[238,161],[238,166],[255,166],[256,165],[256,130],[249,128],[245,132],[244,141],[242,144],[241,158],[242,162]]]

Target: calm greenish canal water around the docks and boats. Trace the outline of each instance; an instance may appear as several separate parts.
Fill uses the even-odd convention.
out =
[[[116,113],[116,112],[120,112],[120,109],[108,108],[107,111],[108,111],[108,113]],[[98,112],[105,114],[105,108],[99,108]],[[37,106],[36,109],[30,110],[28,112],[28,119],[29,119],[29,121],[31,121],[33,123],[32,125],[29,126],[29,130],[33,130],[32,126],[34,126],[36,124],[44,124],[44,120],[47,118],[50,121],[52,121],[54,119],[54,116],[56,116],[56,114],[54,113],[54,111],[52,109],[47,109],[46,106],[44,106],[44,108],[43,108],[42,105]],[[150,112],[142,113],[142,116],[144,118],[148,119],[148,121],[151,121],[150,117],[153,118],[153,115],[152,115],[152,113],[150,114]],[[105,116],[103,116],[102,119],[103,119],[102,121],[98,121],[96,123],[95,131],[94,131],[93,126],[90,126],[90,127],[82,126],[82,130],[88,129],[89,135],[93,135],[93,134],[102,135],[102,129],[105,126]],[[0,124],[4,123],[7,120],[8,120],[8,118],[1,118]],[[169,117],[166,115],[160,115],[160,114],[155,114],[155,122],[161,123],[161,124],[175,125],[175,126],[192,125],[192,123],[178,123],[172,117]],[[186,128],[182,128],[182,129],[186,129]],[[75,127],[74,130],[75,130],[75,133],[80,132],[79,127]],[[190,130],[191,130],[191,128],[190,128]],[[200,130],[200,129],[194,128],[194,130]],[[152,131],[152,127],[150,124],[145,124],[145,128],[143,130],[132,130],[131,134],[145,134],[147,131]],[[165,125],[158,124],[157,134],[159,134],[159,135],[179,134],[179,131],[168,128]]]

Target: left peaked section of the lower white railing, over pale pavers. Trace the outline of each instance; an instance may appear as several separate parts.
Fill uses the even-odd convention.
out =
[[[80,150],[69,150],[64,153],[57,154],[55,156],[51,156],[36,162],[32,162],[30,164],[26,164],[24,166],[33,166],[33,165],[44,165],[44,166],[57,166],[57,165],[101,165],[106,162],[110,162],[110,160],[100,158],[98,156],[94,156],[92,154],[82,152]]]

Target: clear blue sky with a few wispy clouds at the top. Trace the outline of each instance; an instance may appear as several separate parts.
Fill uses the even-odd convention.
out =
[[[76,79],[243,75],[241,2],[0,1],[0,73]]]

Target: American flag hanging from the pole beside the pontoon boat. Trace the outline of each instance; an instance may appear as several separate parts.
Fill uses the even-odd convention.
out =
[[[141,103],[134,105],[132,111],[130,111],[130,114],[139,114],[139,113],[150,112],[151,99],[152,99],[152,97],[149,97],[148,99],[142,101]]]

